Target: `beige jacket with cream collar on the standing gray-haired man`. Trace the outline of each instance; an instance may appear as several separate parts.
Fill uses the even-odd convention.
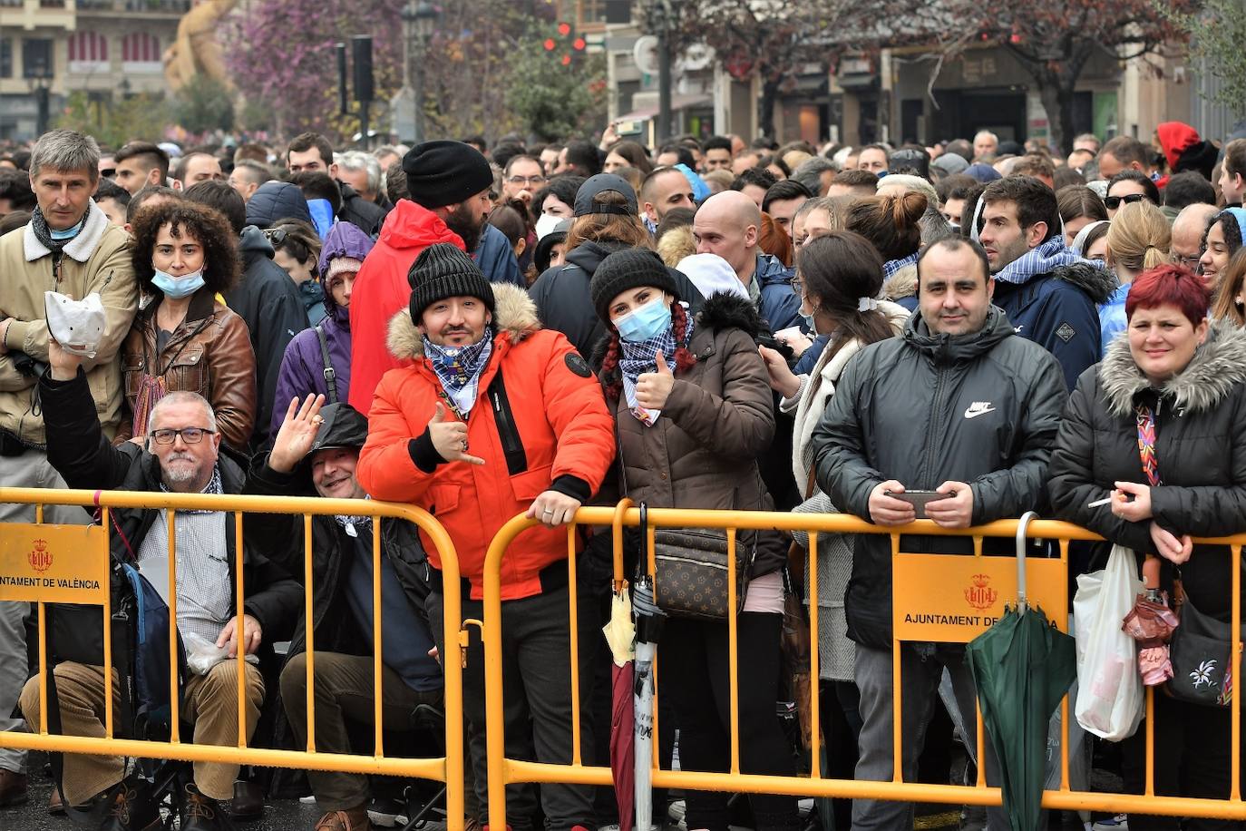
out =
[[[108,223],[91,202],[86,226],[65,247],[60,274],[52,253],[35,238],[30,224],[0,237],[0,318],[14,318],[0,355],[0,430],[31,447],[44,447],[44,417],[36,400],[37,378],[22,375],[14,363],[20,351],[47,361],[47,320],[44,292],[75,299],[98,292],[107,325],[93,359],[85,360],[87,382],[100,424],[108,439],[121,420],[121,361],[117,351],[138,309],[138,287],[130,262],[130,237]]]

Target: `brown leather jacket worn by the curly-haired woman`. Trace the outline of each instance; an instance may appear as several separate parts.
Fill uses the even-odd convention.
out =
[[[217,303],[212,292],[199,289],[191,298],[186,319],[157,354],[159,302],[157,298],[138,313],[121,348],[126,404],[115,444],[146,434],[147,425],[135,425],[133,417],[142,376],[150,373],[164,379],[166,392],[189,391],[206,397],[223,441],[245,451],[255,426],[255,353],[247,324]]]

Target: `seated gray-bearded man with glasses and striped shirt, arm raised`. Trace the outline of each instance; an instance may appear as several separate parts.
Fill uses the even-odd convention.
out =
[[[47,458],[72,487],[151,491],[153,493],[240,493],[242,467],[219,452],[212,406],[196,392],[174,391],[152,407],[146,449],[133,442],[113,447],[91,412],[91,392],[81,358],[50,345],[50,369],[39,394],[51,441]],[[81,511],[81,508],[78,508]],[[112,511],[116,533],[112,556],[132,556],[138,569],[162,596],[167,593],[171,532],[167,512],[158,508]],[[245,526],[244,526],[245,528]],[[253,655],[274,640],[289,638],[303,604],[303,588],[244,538],[243,628],[234,617],[234,515],[224,511],[177,511],[172,533],[177,551],[177,629],[186,643],[189,674],[182,685],[183,719],[194,724],[194,744],[233,745],[238,740],[239,649]],[[169,598],[166,597],[166,601]],[[55,647],[55,645],[54,645]],[[66,735],[103,735],[103,668],[62,662],[52,669],[61,724]],[[259,720],[264,681],[255,664],[245,664],[248,741]],[[113,685],[113,698],[120,686]],[[22,714],[39,723],[39,683],[21,694]],[[128,725],[120,725],[126,728]],[[233,796],[238,765],[196,762],[194,779],[179,800],[182,831],[222,831],[219,802]],[[158,825],[159,809],[150,786],[126,776],[120,756],[67,754],[61,781],[72,805],[103,801],[111,806],[105,831],[147,831]]]

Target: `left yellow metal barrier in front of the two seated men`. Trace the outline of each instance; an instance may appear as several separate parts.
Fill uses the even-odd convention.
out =
[[[177,557],[174,553],[174,516],[177,511],[224,511],[234,515],[235,532],[235,625],[243,632],[243,531],[244,515],[277,513],[303,518],[304,571],[302,577],[305,599],[307,649],[307,750],[273,750],[248,748],[245,736],[245,652],[237,650],[238,662],[238,744],[235,748],[198,745],[183,741],[178,725],[176,674],[171,678],[172,716],[168,741],[115,738],[115,704],[105,689],[105,735],[102,738],[54,735],[47,731],[47,668],[40,667],[40,724],[29,725],[31,733],[0,733],[0,746],[72,754],[123,755],[142,759],[212,761],[304,770],[328,770],[351,774],[376,774],[436,780],[446,784],[446,810],[450,831],[461,831],[464,824],[464,730],[462,730],[462,667],[460,657],[442,655],[445,675],[445,756],[397,757],[385,754],[381,718],[381,597],[380,581],[373,581],[373,644],[375,696],[375,746],[373,755],[318,753],[315,750],[315,645],[312,632],[313,603],[313,534],[312,517],[316,515],[368,516],[374,521],[373,574],[381,573],[381,522],[405,520],[417,526],[436,547],[441,557],[445,581],[459,584],[459,559],[446,529],[432,515],[410,505],[373,500],[328,500],[318,497],[269,497],[203,493],[156,493],[126,491],[75,491],[0,487],[0,503],[35,506],[34,523],[0,526],[0,601],[35,603],[39,623],[40,655],[45,649],[46,604],[71,603],[102,607],[103,678],[112,675],[111,598],[108,591],[108,541],[115,533],[110,511],[117,508],[166,508],[168,511],[168,596],[171,629],[171,664],[177,665]],[[45,525],[44,506],[78,505],[98,507],[100,525]],[[83,520],[86,513],[83,512]],[[460,630],[461,603],[457,592],[445,596],[445,643],[447,653],[454,647],[466,647],[466,632]],[[238,642],[242,638],[239,635]],[[40,662],[42,664],[42,662]],[[405,726],[405,725],[404,725]]]

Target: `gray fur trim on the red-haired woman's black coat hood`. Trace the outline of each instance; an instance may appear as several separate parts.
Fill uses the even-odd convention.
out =
[[[1116,338],[1108,346],[1099,364],[1099,381],[1114,416],[1131,414],[1138,394],[1153,389],[1134,363],[1128,336]],[[1156,391],[1172,397],[1177,407],[1201,412],[1214,409],[1242,382],[1246,382],[1246,330],[1221,321],[1212,324],[1207,340],[1195,350],[1186,368]]]

